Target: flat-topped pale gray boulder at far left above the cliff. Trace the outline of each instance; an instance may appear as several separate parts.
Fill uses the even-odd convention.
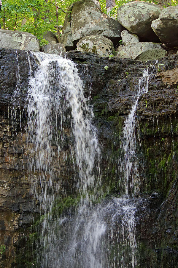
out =
[[[39,51],[39,40],[29,32],[0,30],[0,48]]]

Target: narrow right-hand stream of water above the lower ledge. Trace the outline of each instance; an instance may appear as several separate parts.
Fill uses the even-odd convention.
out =
[[[121,149],[124,156],[119,158],[118,166],[120,169],[120,181],[124,178],[125,194],[132,192],[134,195],[139,192],[139,174],[137,171],[137,157],[136,157],[136,132],[135,132],[135,117],[136,107],[139,97],[148,92],[148,69],[143,71],[142,77],[139,79],[139,89],[134,96],[134,101],[130,114],[124,121],[123,134],[121,137]]]

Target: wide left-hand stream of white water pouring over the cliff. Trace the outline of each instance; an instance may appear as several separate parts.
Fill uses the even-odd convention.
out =
[[[58,168],[71,158],[75,171],[73,181],[82,197],[80,210],[84,211],[98,195],[100,150],[96,129],[90,122],[93,112],[86,105],[76,65],[57,55],[34,53],[34,56],[40,66],[29,81],[28,174],[32,193],[45,215],[37,261],[41,267],[55,267],[58,219],[57,222],[53,219],[52,209],[59,194],[65,196],[66,192]],[[93,193],[88,194],[88,189],[93,189]]]

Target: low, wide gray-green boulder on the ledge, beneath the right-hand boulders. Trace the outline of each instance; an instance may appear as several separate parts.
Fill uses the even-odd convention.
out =
[[[132,60],[155,60],[165,57],[167,52],[160,43],[138,42],[127,46],[119,46],[117,57]]]

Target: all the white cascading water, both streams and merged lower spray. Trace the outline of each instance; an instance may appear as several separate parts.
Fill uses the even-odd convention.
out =
[[[139,194],[135,116],[139,97],[148,90],[148,71],[139,80],[131,112],[124,123],[119,159],[123,198],[101,201],[100,150],[90,119],[83,84],[73,62],[56,55],[34,53],[40,66],[29,82],[28,154],[32,192],[43,214],[37,244],[37,267],[134,267],[136,239],[129,194]],[[30,72],[31,73],[31,72]],[[60,166],[73,161],[74,194],[80,201],[54,218],[53,206],[66,188]],[[62,173],[62,172],[61,172]]]

